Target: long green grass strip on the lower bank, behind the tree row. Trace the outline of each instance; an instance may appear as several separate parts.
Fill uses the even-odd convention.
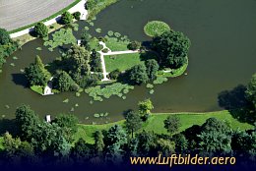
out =
[[[143,125],[143,129],[147,131],[154,131],[157,134],[167,134],[166,130],[163,128],[163,120],[165,120],[169,115],[170,114],[166,113],[153,114],[149,121]],[[179,131],[184,131],[195,124],[202,125],[208,118],[211,117],[228,121],[232,129],[240,128],[241,130],[249,130],[254,128],[252,125],[240,123],[236,119],[232,118],[230,113],[226,110],[210,113],[179,113],[178,116],[182,125]],[[103,125],[79,125],[78,133],[74,138],[75,140],[83,138],[87,142],[93,143],[93,135],[96,130],[107,130],[115,124],[120,124],[123,126],[123,123],[124,120]]]

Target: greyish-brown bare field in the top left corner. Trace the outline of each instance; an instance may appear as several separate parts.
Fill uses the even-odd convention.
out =
[[[1,0],[0,28],[13,30],[41,21],[74,0]]]

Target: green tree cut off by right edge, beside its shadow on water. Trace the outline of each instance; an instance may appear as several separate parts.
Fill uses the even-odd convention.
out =
[[[252,102],[256,109],[256,73],[252,76],[250,83],[247,85],[245,94],[246,98]]]

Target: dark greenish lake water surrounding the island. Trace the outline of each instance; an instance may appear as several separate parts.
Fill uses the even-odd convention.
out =
[[[123,0],[102,11],[95,28],[118,31],[130,39],[149,40],[143,27],[148,21],[160,20],[175,30],[183,31],[192,41],[189,52],[188,76],[170,79],[157,85],[154,95],[143,86],[136,86],[127,99],[111,97],[90,104],[87,94],[76,97],[74,93],[40,96],[24,87],[20,69],[27,67],[36,54],[47,63],[58,52],[35,50],[42,46],[33,40],[16,52],[18,60],[8,59],[0,75],[1,115],[13,118],[16,107],[30,104],[41,116],[70,112],[74,107],[82,122],[103,123],[94,113],[108,112],[110,121],[121,119],[122,111],[135,108],[139,100],[151,97],[155,112],[215,111],[220,110],[218,94],[239,84],[246,84],[256,72],[256,1],[255,0]],[[85,22],[79,22],[81,27]],[[79,33],[77,33],[79,34]],[[15,63],[16,67],[10,66]],[[69,103],[63,103],[69,98]],[[9,105],[7,109],[5,105]],[[85,118],[89,117],[88,120]]]

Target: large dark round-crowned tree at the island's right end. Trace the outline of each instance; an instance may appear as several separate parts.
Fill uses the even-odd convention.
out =
[[[190,40],[182,32],[165,31],[153,38],[152,47],[160,54],[160,66],[177,69],[186,62]]]

